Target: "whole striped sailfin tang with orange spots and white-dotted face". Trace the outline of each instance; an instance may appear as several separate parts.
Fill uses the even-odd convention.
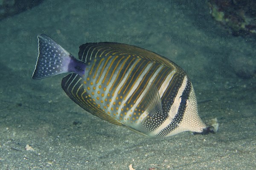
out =
[[[202,132],[192,83],[182,68],[154,52],[114,42],[86,43],[79,60],[38,35],[32,79],[72,72],[61,87],[87,112],[146,136]]]

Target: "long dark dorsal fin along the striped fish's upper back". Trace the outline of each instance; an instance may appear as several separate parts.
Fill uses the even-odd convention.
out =
[[[100,57],[108,56],[133,56],[149,61],[160,62],[163,65],[180,68],[169,59],[160,56],[152,51],[134,45],[122,44],[117,42],[90,42],[79,47],[79,59],[84,62],[91,61]]]

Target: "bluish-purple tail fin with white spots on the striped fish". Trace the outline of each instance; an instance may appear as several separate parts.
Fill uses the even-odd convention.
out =
[[[68,65],[75,59],[61,45],[45,34],[38,35],[38,59],[32,79],[44,79],[69,72]]]

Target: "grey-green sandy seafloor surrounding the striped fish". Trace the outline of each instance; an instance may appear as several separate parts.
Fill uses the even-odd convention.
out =
[[[247,69],[241,51],[252,55],[255,70],[255,38],[228,34],[208,8],[98,2],[44,1],[0,21],[0,169],[128,170],[132,164],[136,170],[255,170],[255,74],[242,79],[234,72]],[[188,72],[199,115],[204,122],[217,118],[218,132],[147,138],[86,113],[61,89],[64,75],[31,79],[42,33],[75,57],[79,45],[99,41],[168,57]]]

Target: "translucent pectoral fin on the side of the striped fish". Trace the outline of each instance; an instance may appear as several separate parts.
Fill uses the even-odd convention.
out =
[[[154,114],[161,113],[163,111],[160,94],[154,83],[148,83],[143,95],[145,97],[141,103],[146,108],[145,111],[148,113],[148,116],[153,116]]]

